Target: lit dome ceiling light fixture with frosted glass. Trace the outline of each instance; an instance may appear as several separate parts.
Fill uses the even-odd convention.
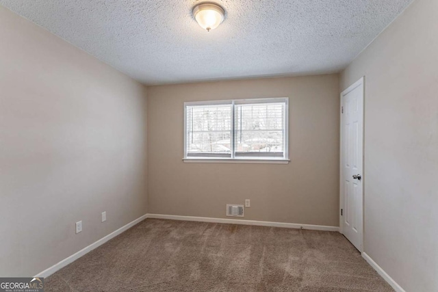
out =
[[[211,31],[224,21],[225,11],[214,3],[199,3],[193,8],[193,16],[203,29]]]

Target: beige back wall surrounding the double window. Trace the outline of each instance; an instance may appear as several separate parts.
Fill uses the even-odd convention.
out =
[[[280,164],[183,163],[183,103],[289,97],[289,153]],[[149,213],[339,226],[338,75],[148,87]]]

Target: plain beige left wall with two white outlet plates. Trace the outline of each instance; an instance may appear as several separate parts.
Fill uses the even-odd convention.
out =
[[[1,6],[0,196],[0,276],[34,276],[147,201],[144,86]]]

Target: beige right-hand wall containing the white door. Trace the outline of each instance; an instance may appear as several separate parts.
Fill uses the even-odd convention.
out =
[[[365,252],[438,291],[438,1],[416,0],[342,73],[365,75]]]

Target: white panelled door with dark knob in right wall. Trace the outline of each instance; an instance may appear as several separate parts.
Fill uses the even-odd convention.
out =
[[[362,252],[363,78],[341,94],[341,232]]]

